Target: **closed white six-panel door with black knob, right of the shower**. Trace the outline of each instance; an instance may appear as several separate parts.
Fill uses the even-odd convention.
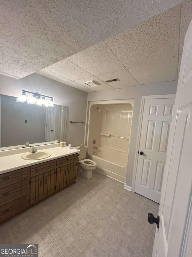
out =
[[[175,98],[145,99],[135,192],[160,203]]]

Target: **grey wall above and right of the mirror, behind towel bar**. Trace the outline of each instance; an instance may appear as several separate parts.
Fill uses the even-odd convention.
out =
[[[72,146],[84,142],[85,124],[70,124],[70,121],[85,122],[87,92],[37,73],[19,80],[0,74],[0,94],[18,97],[22,89],[54,97],[55,104],[67,106],[66,142]]]

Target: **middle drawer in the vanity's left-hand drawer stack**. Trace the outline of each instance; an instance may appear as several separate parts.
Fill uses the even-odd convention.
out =
[[[0,206],[13,198],[27,193],[27,179],[0,188]]]

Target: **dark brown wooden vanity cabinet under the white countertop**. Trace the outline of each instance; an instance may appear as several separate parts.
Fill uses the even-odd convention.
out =
[[[0,174],[0,223],[71,185],[78,154]]]

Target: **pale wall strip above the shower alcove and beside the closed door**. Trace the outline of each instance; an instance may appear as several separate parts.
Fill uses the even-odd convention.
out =
[[[126,184],[128,186],[131,186],[132,179],[133,179],[133,169],[134,169],[135,154],[136,154],[141,97],[151,96],[151,95],[175,94],[176,89],[177,89],[177,81],[170,81],[170,82],[164,82],[164,83],[138,85],[135,87],[124,88],[124,89],[108,90],[105,92],[98,91],[98,92],[88,93],[87,106],[89,106],[90,101],[135,99],[134,108],[133,108],[130,145],[129,145],[127,177],[126,177]]]

